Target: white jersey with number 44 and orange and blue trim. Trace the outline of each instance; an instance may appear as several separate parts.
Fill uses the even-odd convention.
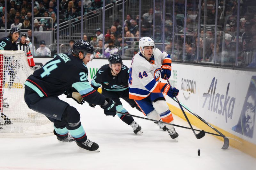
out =
[[[130,68],[129,98],[142,100],[151,92],[161,92],[158,82],[161,76],[163,63],[172,63],[170,55],[155,48],[153,56],[148,62],[139,52],[134,55]]]

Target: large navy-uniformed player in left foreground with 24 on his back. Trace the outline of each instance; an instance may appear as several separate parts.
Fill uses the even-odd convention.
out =
[[[88,82],[86,64],[92,60],[93,52],[89,42],[79,40],[74,43],[72,54],[55,55],[28,77],[25,82],[25,102],[30,109],[44,114],[54,123],[53,132],[58,140],[75,140],[81,148],[98,151],[99,145],[87,139],[76,108],[58,98],[72,86],[80,94],[71,92],[74,100],[81,104],[85,100],[90,104],[100,105],[105,115],[116,115],[113,100],[97,92]]]

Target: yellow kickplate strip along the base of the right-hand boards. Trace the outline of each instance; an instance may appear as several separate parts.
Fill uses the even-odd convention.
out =
[[[172,111],[173,114],[179,116],[180,118],[184,119],[186,121],[186,118],[184,117],[182,111],[180,108],[171,105],[170,103],[167,103],[170,110]],[[204,131],[207,132],[212,132],[212,133],[216,133],[212,128],[210,128],[209,126],[207,126],[204,122],[200,121],[196,116],[186,112],[186,115],[188,116],[189,122],[193,125],[195,125],[196,127],[200,128],[200,129],[204,129]],[[208,122],[209,123],[209,122]],[[212,126],[214,126],[213,124],[211,124]],[[219,130],[221,133],[223,133],[225,136],[227,137],[231,137],[234,139],[239,140],[240,142],[242,142],[242,144],[234,139],[229,138],[229,145],[232,145],[233,147],[239,149],[242,152],[245,152],[249,155],[251,155],[252,157],[256,158],[256,144],[253,144],[251,142],[248,142],[240,137],[237,137],[236,135],[233,135],[223,129],[218,128],[217,126],[214,126],[217,130]],[[218,137],[218,136],[214,136],[219,138],[220,140],[223,141],[223,137]]]

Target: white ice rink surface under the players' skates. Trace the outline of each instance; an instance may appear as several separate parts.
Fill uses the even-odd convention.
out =
[[[99,144],[100,152],[80,150],[76,143],[59,143],[54,135],[0,137],[1,170],[252,170],[256,167],[255,158],[232,146],[222,150],[223,141],[212,135],[196,139],[192,130],[176,127],[177,142],[153,122],[134,118],[143,130],[143,135],[138,136],[117,116],[105,116],[100,106],[92,108],[63,96],[61,99],[77,108],[88,138]],[[144,116],[122,102],[131,114]],[[174,121],[189,126],[175,115]],[[197,156],[198,149],[201,156]]]

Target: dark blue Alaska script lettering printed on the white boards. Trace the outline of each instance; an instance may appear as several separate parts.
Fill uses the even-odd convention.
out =
[[[215,81],[215,77],[214,77],[212,79],[212,83],[209,87],[208,92],[203,94],[203,97],[205,98],[203,108],[206,102],[209,101],[208,110],[211,112],[218,113],[219,115],[222,115],[222,116],[225,115],[225,119],[227,123],[228,118],[232,119],[236,98],[230,97],[228,95],[230,83],[228,83],[226,94],[217,93],[216,92],[217,81],[218,79],[216,79]]]

